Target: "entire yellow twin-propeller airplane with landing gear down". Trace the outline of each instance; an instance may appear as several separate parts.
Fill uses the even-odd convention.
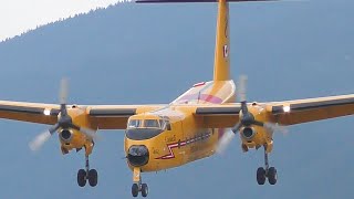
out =
[[[183,1],[189,0],[175,0]],[[88,156],[98,129],[125,129],[124,148],[133,171],[134,197],[139,192],[143,197],[148,195],[142,172],[165,170],[209,157],[223,145],[230,130],[239,133],[243,151],[264,148],[264,167],[258,168],[257,181],[264,185],[268,179],[274,185],[277,169],[268,161],[274,130],[281,126],[352,115],[354,95],[247,103],[244,77],[237,86],[230,77],[229,35],[228,2],[219,0],[214,81],[195,84],[169,104],[66,105],[67,83],[62,81],[60,105],[0,101],[0,118],[52,125],[30,143],[33,150],[56,132],[62,154],[84,148],[85,169],[77,172],[81,187],[86,181],[90,186],[97,185],[97,171],[90,168]],[[236,97],[240,103],[236,103]]]

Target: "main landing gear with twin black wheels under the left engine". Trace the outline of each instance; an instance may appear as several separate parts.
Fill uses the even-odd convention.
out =
[[[96,169],[90,169],[88,156],[85,156],[85,157],[86,157],[85,169],[80,169],[77,171],[77,185],[80,187],[85,187],[86,181],[88,180],[90,186],[95,187],[98,181],[98,175]]]

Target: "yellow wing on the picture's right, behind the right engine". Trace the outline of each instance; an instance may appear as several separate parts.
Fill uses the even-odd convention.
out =
[[[250,104],[248,104],[249,106]],[[340,95],[260,104],[271,123],[295,125],[354,114],[354,95]],[[195,115],[204,118],[204,126],[233,127],[239,121],[240,104],[197,107]]]

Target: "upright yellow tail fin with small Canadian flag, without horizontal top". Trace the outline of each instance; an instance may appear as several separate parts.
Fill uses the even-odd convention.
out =
[[[229,3],[219,0],[214,81],[230,80]]]

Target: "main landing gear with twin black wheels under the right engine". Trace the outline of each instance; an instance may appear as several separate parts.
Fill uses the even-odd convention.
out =
[[[266,165],[266,168],[259,167],[257,169],[258,185],[264,185],[266,178],[268,178],[268,181],[270,185],[275,185],[278,179],[277,169],[274,167],[269,167],[268,153],[266,150],[266,147],[264,147],[264,165]]]

